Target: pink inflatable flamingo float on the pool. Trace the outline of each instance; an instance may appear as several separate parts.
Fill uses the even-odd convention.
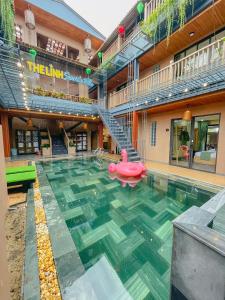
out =
[[[110,178],[112,180],[118,179],[122,187],[126,187],[127,184],[130,187],[135,187],[147,175],[145,166],[141,162],[128,162],[128,155],[125,149],[121,151],[121,156],[122,162],[109,165]]]

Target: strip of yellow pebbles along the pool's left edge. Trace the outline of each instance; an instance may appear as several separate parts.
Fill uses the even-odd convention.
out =
[[[34,204],[41,300],[61,300],[62,297],[38,180],[34,184]]]

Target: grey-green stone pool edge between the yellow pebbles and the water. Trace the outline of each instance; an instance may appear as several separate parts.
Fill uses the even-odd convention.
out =
[[[67,300],[71,285],[85,270],[47,176],[40,164],[36,167],[60,291]]]

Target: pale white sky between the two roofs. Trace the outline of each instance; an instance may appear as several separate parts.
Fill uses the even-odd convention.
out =
[[[137,0],[65,0],[65,2],[108,37]]]

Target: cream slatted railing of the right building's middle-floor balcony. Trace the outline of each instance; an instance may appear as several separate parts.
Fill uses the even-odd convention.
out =
[[[209,72],[216,66],[225,64],[225,38],[190,54],[177,62],[171,62],[165,68],[153,73],[141,80],[136,81],[129,88],[110,94],[110,107],[115,107],[128,102],[131,98],[139,97],[150,91],[169,86],[173,83],[181,83],[196,75]],[[203,82],[203,85],[209,83]],[[134,88],[135,87],[135,88]],[[132,94],[133,93],[133,94]]]

